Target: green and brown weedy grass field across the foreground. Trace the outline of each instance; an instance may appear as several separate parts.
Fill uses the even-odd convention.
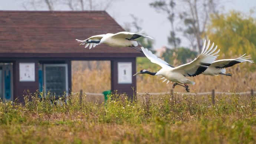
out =
[[[63,106],[35,95],[24,106],[1,102],[0,143],[256,143],[255,97],[217,96],[215,106],[210,96],[77,97]]]

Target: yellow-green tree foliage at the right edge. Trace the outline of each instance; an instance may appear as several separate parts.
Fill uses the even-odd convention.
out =
[[[251,55],[256,61],[256,19],[243,13],[231,11],[218,16],[211,15],[207,35],[220,48],[220,54],[235,58]]]

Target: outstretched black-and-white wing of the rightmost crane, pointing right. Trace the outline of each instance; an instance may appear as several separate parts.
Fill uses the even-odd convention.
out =
[[[252,60],[250,60],[251,58],[248,58],[249,57],[248,55],[247,56],[244,56],[244,55],[236,59],[220,59],[220,60],[214,61],[210,67],[227,68],[235,64],[238,64],[240,62],[253,62]]]

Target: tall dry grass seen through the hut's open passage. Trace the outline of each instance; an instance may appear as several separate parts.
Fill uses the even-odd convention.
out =
[[[72,61],[72,91],[102,93],[111,89],[110,61]]]

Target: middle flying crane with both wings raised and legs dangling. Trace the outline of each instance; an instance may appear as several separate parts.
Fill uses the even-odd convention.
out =
[[[187,79],[186,76],[200,75],[211,65],[211,63],[215,61],[217,56],[219,56],[217,54],[219,53],[220,49],[216,51],[217,45],[216,47],[214,47],[214,43],[213,43],[211,47],[209,46],[210,46],[210,40],[208,41],[207,45],[206,45],[206,41],[204,41],[202,51],[197,56],[197,58],[195,58],[193,61],[187,64],[180,65],[177,67],[171,66],[170,64],[165,62],[163,59],[160,59],[156,55],[152,54],[152,52],[149,51],[147,48],[141,47],[142,52],[145,54],[145,56],[148,59],[150,59],[152,63],[158,64],[162,68],[158,72],[150,72],[145,69],[142,69],[141,71],[137,72],[133,76],[136,76],[138,74],[145,74],[145,73],[153,76],[163,76],[163,78],[161,78],[161,79],[164,79],[163,82],[165,82],[166,80],[168,80],[167,83],[169,83],[170,81],[175,82],[173,84],[173,89],[175,88],[176,85],[180,85],[180,86],[183,86],[187,92],[189,92],[190,89],[188,89],[187,84],[194,85],[195,82]]]

